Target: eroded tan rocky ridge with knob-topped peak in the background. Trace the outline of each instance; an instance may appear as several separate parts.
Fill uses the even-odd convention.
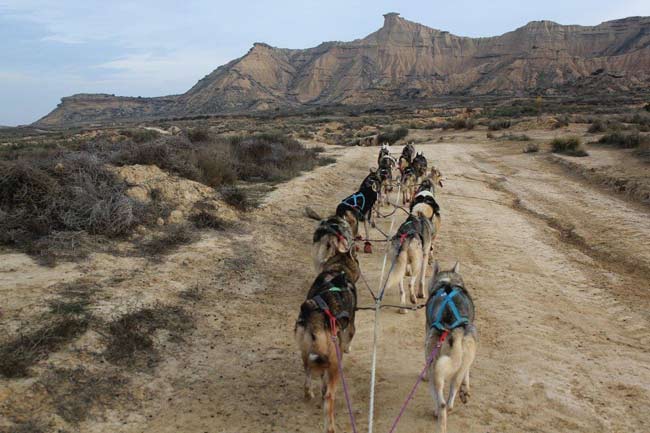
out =
[[[256,43],[243,57],[163,98],[75,95],[37,122],[195,116],[448,95],[620,94],[650,90],[650,17],[598,26],[535,21],[467,38],[384,15],[376,32],[304,50]]]

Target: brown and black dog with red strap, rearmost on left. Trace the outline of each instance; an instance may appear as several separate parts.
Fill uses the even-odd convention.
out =
[[[354,251],[354,250],[353,250]],[[354,312],[357,292],[354,283],[359,278],[359,263],[354,253],[337,253],[324,265],[309,289],[307,300],[300,306],[295,337],[305,369],[305,398],[311,399],[312,375],[322,380],[325,431],[333,433],[334,397],[339,381],[339,361],[332,341],[332,329],[325,310],[336,317],[339,350],[348,352],[354,337]],[[342,355],[341,355],[342,356]]]

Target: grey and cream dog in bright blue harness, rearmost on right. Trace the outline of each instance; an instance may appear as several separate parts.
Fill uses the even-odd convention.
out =
[[[447,432],[447,410],[452,410],[456,395],[463,403],[469,398],[469,369],[476,356],[478,336],[474,326],[474,303],[459,274],[456,263],[441,271],[436,261],[427,300],[427,329],[424,356],[428,358],[443,331],[449,331],[428,371],[429,390],[438,418],[438,431]],[[445,398],[445,385],[449,395]]]

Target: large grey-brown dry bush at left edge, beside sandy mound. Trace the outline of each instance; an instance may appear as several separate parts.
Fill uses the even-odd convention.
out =
[[[117,237],[140,223],[144,205],[126,190],[86,153],[0,161],[0,243],[44,256],[69,246],[59,258],[84,257],[84,235],[69,232]]]

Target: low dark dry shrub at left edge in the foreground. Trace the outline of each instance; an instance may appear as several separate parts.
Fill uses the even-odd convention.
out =
[[[85,316],[65,315],[2,344],[0,374],[8,378],[27,377],[32,365],[83,334],[88,322]]]

